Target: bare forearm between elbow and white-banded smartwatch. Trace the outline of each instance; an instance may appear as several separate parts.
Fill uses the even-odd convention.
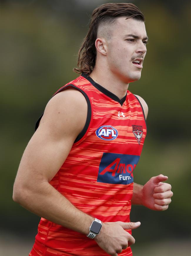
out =
[[[35,190],[24,189],[19,194],[15,201],[27,210],[68,229],[88,234],[94,218],[78,210],[48,182],[42,182]]]

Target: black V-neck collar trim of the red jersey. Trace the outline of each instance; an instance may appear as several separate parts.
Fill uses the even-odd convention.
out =
[[[117,101],[121,106],[123,105],[123,103],[126,100],[126,95],[120,100],[115,94],[113,94],[112,92],[108,91],[107,89],[105,89],[103,86],[101,86],[100,84],[96,83],[90,76],[88,76],[87,74],[82,73],[82,76],[84,78],[86,78],[94,87],[96,87],[96,89],[98,89],[100,92],[102,92],[103,94],[105,94],[106,96],[110,97],[112,100]]]

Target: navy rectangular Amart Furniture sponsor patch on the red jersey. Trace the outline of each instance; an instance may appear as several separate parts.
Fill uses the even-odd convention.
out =
[[[140,156],[103,153],[97,182],[110,184],[130,184],[133,182],[133,170]]]

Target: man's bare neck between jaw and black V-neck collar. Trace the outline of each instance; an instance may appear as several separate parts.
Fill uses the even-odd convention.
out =
[[[96,65],[90,77],[108,91],[115,94],[120,100],[126,95],[129,84],[120,81],[112,72],[104,72]]]

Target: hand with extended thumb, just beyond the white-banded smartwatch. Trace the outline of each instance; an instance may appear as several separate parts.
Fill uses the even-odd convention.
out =
[[[135,239],[124,229],[136,229],[140,222],[104,222],[94,240],[109,255],[117,256],[122,250],[135,243]]]

